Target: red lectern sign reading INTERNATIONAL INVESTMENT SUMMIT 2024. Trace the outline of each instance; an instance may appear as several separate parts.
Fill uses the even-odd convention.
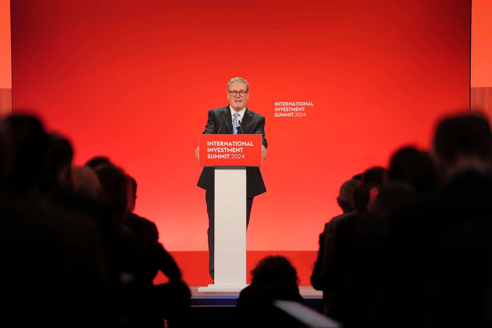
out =
[[[261,134],[199,134],[200,166],[261,166]]]

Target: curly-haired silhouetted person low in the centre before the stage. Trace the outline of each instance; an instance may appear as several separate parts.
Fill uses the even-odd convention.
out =
[[[303,327],[273,305],[277,299],[305,304],[296,268],[284,256],[267,256],[251,270],[251,284],[236,302],[237,322],[231,327]]]

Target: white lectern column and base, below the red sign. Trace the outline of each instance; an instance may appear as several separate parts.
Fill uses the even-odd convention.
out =
[[[246,166],[215,167],[214,283],[199,292],[235,292],[246,284]]]

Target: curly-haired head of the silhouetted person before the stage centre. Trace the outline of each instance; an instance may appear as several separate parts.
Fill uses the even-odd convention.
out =
[[[297,284],[299,282],[296,268],[287,258],[280,255],[270,255],[261,259],[251,270],[251,275],[251,283]]]

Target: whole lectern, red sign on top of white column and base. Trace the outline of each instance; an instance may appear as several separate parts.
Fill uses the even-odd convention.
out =
[[[198,164],[215,167],[214,283],[199,292],[238,292],[246,284],[246,166],[261,166],[261,134],[200,134]]]

